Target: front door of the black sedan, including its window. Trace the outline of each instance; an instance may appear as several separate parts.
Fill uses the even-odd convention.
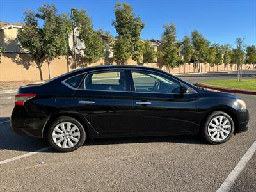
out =
[[[196,118],[196,92],[180,94],[172,77],[147,70],[132,70],[134,134],[190,133]]]

